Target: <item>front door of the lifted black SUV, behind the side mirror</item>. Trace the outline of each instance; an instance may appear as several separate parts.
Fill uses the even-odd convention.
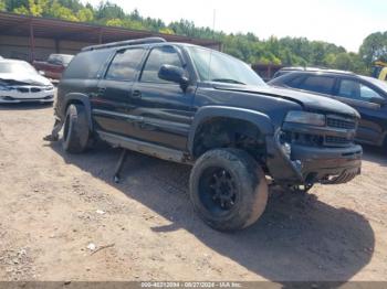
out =
[[[133,87],[136,98],[129,101],[129,111],[142,120],[136,138],[185,150],[194,117],[196,86],[182,89],[177,83],[160,79],[158,71],[165,64],[187,72],[182,54],[177,47],[168,44],[154,47],[144,64],[139,81]]]

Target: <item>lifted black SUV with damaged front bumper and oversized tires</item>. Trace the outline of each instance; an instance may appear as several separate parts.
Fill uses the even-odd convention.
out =
[[[323,97],[270,88],[243,62],[161,39],[84,49],[57,88],[63,147],[91,139],[192,164],[189,189],[210,226],[254,223],[280,185],[344,183],[360,172],[358,114]]]

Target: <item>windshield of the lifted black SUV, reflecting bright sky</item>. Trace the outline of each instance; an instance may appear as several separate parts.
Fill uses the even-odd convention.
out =
[[[190,46],[188,51],[202,82],[266,86],[248,64],[227,54]]]

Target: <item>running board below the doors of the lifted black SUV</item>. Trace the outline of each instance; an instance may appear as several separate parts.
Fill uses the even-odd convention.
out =
[[[156,157],[167,161],[178,163],[191,163],[182,151],[169,149],[163,146],[144,142],[128,137],[117,136],[109,132],[96,130],[100,138],[113,147],[119,147],[137,152],[142,152],[151,157]]]

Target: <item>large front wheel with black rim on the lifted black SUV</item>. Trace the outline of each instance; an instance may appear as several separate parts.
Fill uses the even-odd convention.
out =
[[[215,149],[203,153],[195,163],[189,182],[195,210],[219,231],[250,226],[266,206],[265,175],[242,150]]]

